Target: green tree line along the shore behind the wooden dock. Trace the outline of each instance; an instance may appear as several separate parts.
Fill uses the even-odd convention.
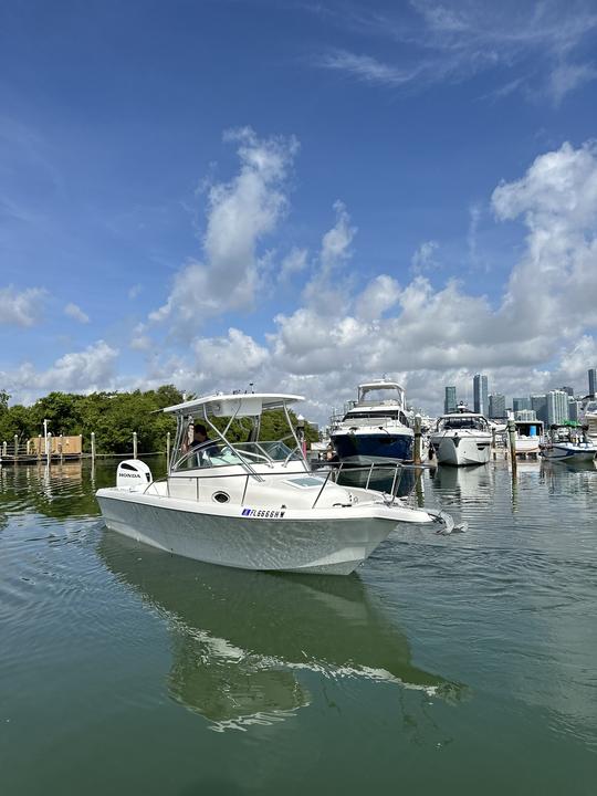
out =
[[[167,406],[181,404],[182,392],[174,385],[163,385],[155,390],[134,390],[132,392],[50,392],[35,404],[25,407],[9,406],[10,395],[0,390],[0,442],[12,442],[19,438],[19,447],[28,439],[43,434],[43,421],[48,420],[48,430],[53,436],[83,437],[83,451],[91,449],[91,432],[95,432],[98,453],[129,453],[133,431],[137,432],[138,452],[154,453],[166,450],[166,436],[176,431],[176,420],[160,410]],[[187,396],[187,400],[190,397]],[[290,412],[293,423],[296,417]],[[220,429],[226,426],[224,418],[214,418]],[[234,421],[229,431],[231,441],[247,439],[247,423]],[[282,410],[265,412],[261,420],[260,439],[280,439],[289,433]],[[308,423],[305,426],[307,441],[317,439],[317,432]]]

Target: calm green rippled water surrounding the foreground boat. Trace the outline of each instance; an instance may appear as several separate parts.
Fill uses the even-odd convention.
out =
[[[468,533],[349,578],[130,543],[114,473],[0,470],[2,796],[596,793],[597,470],[426,472]]]

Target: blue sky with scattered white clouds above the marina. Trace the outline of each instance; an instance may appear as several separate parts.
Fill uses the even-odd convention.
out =
[[[23,1],[0,31],[13,402],[586,391],[594,3]]]

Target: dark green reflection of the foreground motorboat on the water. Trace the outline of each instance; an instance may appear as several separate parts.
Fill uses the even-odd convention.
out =
[[[234,570],[168,556],[111,531],[98,552],[112,573],[166,612],[170,693],[213,730],[283,721],[308,705],[305,671],[460,698],[460,685],[412,666],[406,637],[356,575]]]

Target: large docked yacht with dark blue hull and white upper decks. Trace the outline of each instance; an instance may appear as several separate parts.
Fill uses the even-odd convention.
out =
[[[345,464],[386,463],[412,459],[415,432],[406,415],[404,388],[379,379],[358,386],[356,404],[341,422],[333,422],[329,438]]]

